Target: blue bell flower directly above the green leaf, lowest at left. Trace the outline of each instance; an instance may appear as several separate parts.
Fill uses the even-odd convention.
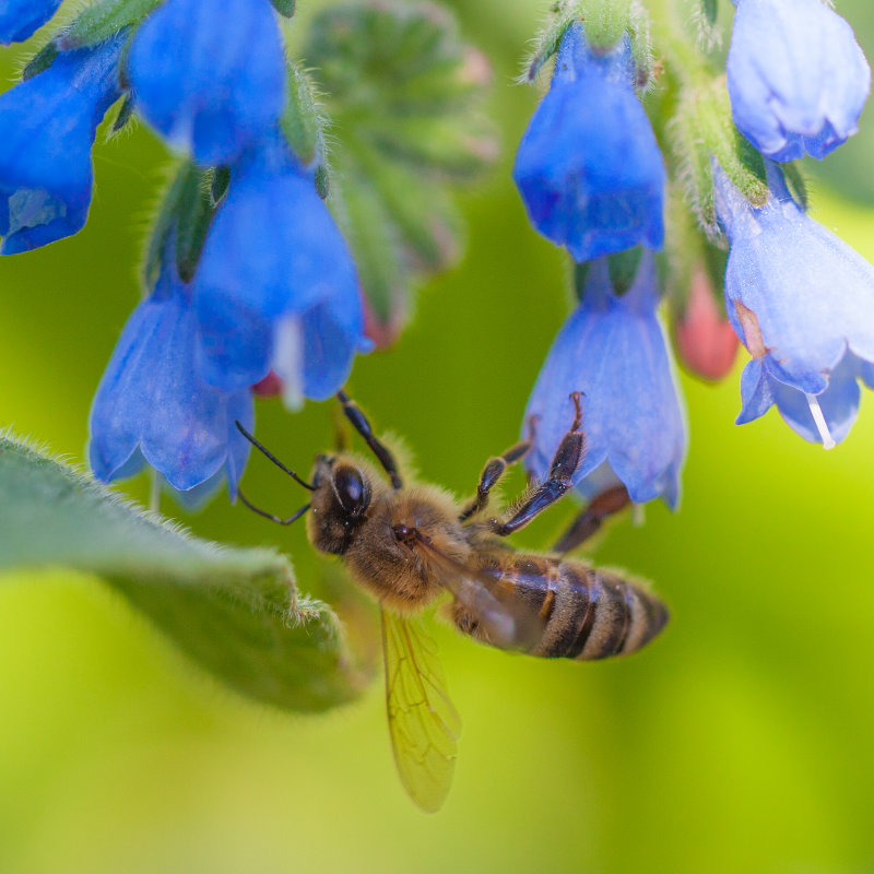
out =
[[[224,476],[232,498],[252,429],[251,392],[225,392],[197,373],[191,292],[167,259],[155,290],[125,326],[91,410],[88,457],[104,482],[145,463],[180,492]]]

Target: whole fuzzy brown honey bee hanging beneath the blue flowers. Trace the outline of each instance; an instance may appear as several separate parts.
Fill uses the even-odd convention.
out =
[[[392,452],[342,391],[343,412],[386,476],[364,458],[338,452],[316,456],[312,482],[307,482],[237,423],[260,451],[311,492],[311,500],[287,519],[259,509],[240,492],[243,503],[281,524],[308,513],[307,534],[316,550],[341,556],[353,579],[379,602],[394,759],[408,793],[426,812],[439,810],[449,791],[461,723],[436,648],[413,621],[416,614],[448,593],[446,614],[475,640],[576,660],[636,652],[668,622],[664,604],[646,588],[562,555],[628,503],[624,488],[592,500],[554,554],[517,552],[503,540],[572,485],[586,441],[580,395],[571,397],[575,418],[548,476],[506,520],[485,513],[488,496],[507,466],[529,451],[530,439],[489,459],[476,495],[460,505],[437,486],[405,483]]]

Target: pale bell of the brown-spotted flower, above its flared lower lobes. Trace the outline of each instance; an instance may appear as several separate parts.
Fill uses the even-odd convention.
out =
[[[756,208],[719,167],[717,214],[729,237],[727,309],[737,335],[780,381],[818,394],[849,350],[874,362],[874,268],[813,221],[768,164]]]

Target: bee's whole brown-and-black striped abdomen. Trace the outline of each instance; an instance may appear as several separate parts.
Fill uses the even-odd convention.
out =
[[[658,598],[581,562],[507,552],[489,556],[480,570],[479,584],[491,593],[491,606],[456,600],[452,618],[465,634],[501,649],[551,659],[606,659],[636,652],[668,622]],[[489,578],[491,584],[483,581]],[[496,615],[508,622],[496,623]],[[489,626],[499,626],[500,635]]]

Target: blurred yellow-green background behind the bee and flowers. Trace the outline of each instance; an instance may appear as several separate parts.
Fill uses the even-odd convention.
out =
[[[303,20],[319,4],[299,5]],[[562,257],[528,226],[509,179],[535,102],[512,79],[545,4],[451,5],[494,64],[503,160],[462,198],[464,261],[427,285],[400,343],[359,359],[351,385],[424,477],[466,494],[513,440],[567,299]],[[874,57],[870,2],[839,9]],[[3,56],[8,81],[22,54]],[[874,110],[866,119],[816,168],[814,215],[874,259],[874,209],[841,199],[874,193]],[[139,296],[164,162],[142,128],[99,145],[87,229],[0,262],[0,424],[75,461]],[[874,403],[824,452],[773,412],[735,427],[739,374],[719,387],[683,379],[680,512],[648,507],[645,527],[622,520],[597,544],[598,562],[664,594],[663,638],[630,660],[566,664],[435,624],[464,734],[434,817],[395,778],[379,682],[326,716],[277,714],[192,668],[96,580],[5,579],[0,872],[874,871]],[[330,440],[329,406],[292,416],[261,402],[258,434],[306,468]],[[262,506],[296,506],[261,459],[246,484]],[[125,491],[144,499],[147,483]],[[518,543],[543,547],[572,509]],[[280,545],[302,588],[319,591],[303,525],[274,529],[223,497],[186,522]]]

